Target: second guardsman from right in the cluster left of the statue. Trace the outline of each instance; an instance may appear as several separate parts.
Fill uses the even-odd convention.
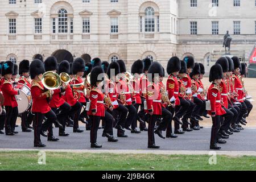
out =
[[[199,126],[199,120],[203,120],[203,118],[200,118],[200,110],[201,107],[203,107],[204,102],[200,99],[199,96],[199,88],[200,85],[198,83],[198,79],[199,79],[199,75],[200,75],[200,65],[198,63],[195,63],[195,67],[193,68],[192,72],[190,73],[191,76],[191,91],[192,91],[192,99],[194,104],[196,104],[192,115],[191,115],[191,128],[193,130],[200,130],[200,126]]]

